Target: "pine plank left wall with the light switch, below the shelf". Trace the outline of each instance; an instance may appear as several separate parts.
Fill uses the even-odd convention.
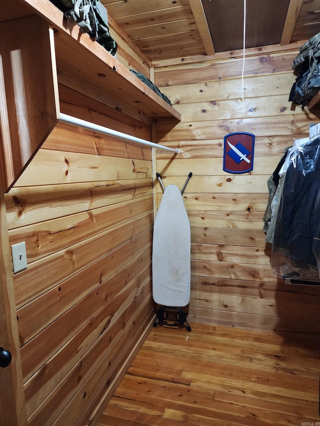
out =
[[[61,112],[150,138],[135,118],[59,93]],[[28,425],[87,424],[152,324],[151,150],[59,124],[5,203],[10,245],[26,243],[13,284]]]

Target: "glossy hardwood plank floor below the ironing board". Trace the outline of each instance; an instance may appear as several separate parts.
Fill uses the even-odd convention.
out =
[[[190,326],[151,330],[98,426],[320,426],[318,340]]]

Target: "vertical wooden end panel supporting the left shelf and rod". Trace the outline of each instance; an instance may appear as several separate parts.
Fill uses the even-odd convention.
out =
[[[0,162],[7,191],[56,125],[59,101],[48,23],[26,15],[1,21],[0,33]]]

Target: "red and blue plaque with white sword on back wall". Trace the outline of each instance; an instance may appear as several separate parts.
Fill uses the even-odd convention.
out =
[[[224,136],[223,170],[227,173],[247,173],[253,169],[254,135],[246,132]]]

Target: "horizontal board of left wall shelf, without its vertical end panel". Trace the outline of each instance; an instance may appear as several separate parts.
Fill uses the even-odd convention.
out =
[[[49,22],[54,29],[58,81],[91,96],[102,97],[149,117],[170,117],[180,121],[181,114],[135,77],[78,25],[63,19],[63,13],[49,0],[20,0]]]

